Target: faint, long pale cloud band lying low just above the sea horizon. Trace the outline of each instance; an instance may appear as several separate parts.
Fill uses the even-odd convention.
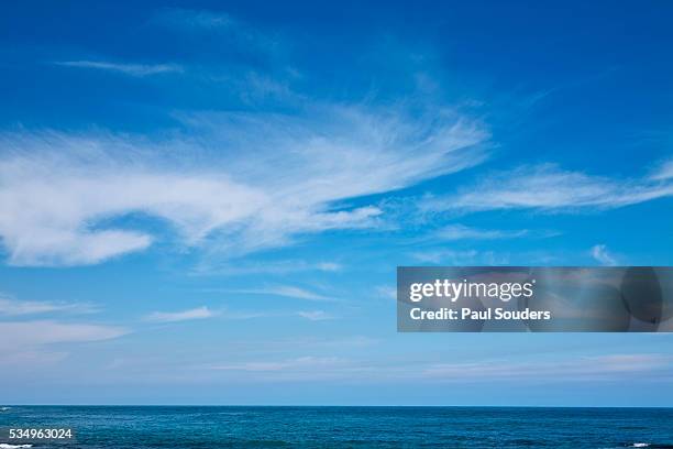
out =
[[[417,380],[432,383],[481,382],[603,382],[647,375],[650,380],[666,380],[673,369],[670,355],[658,353],[566,357],[562,360],[540,359],[479,360],[437,363],[416,361],[398,363],[391,360],[346,359],[334,355],[277,358],[213,363],[199,369],[228,372],[231,379],[254,375],[276,382],[318,379]],[[247,377],[246,377],[247,379]]]

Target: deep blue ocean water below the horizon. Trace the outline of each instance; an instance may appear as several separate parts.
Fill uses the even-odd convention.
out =
[[[10,441],[10,427],[75,437]],[[0,429],[0,449],[673,448],[673,408],[12,406]]]

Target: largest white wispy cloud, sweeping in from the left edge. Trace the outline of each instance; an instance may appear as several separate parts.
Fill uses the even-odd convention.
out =
[[[133,213],[162,219],[180,244],[228,256],[375,227],[384,219],[376,205],[340,201],[478,164],[488,139],[462,117],[362,107],[183,119],[199,139],[0,134],[9,263],[84,265],[144,250],[155,231],[106,226]]]

